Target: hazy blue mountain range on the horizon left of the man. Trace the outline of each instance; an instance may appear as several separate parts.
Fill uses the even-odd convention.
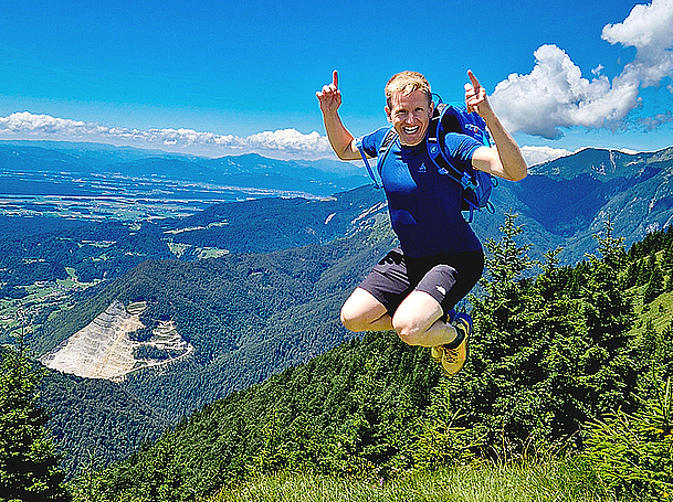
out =
[[[285,161],[255,153],[211,159],[98,143],[51,141],[0,141],[0,172],[4,170],[154,177],[313,195],[330,195],[367,182],[366,172],[357,165],[332,160]],[[0,193],[3,193],[1,185]]]

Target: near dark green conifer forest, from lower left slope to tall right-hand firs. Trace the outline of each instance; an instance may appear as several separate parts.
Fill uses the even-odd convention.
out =
[[[456,377],[440,380],[427,350],[395,333],[366,333],[206,406],[78,490],[111,501],[196,500],[278,470],[385,480],[560,449],[593,459],[614,493],[655,500],[673,479],[673,232],[629,253],[610,225],[597,237],[585,261],[559,266],[550,252],[529,276],[525,234],[508,216],[487,245],[471,359]],[[650,267],[650,278],[628,288],[632,267]],[[622,429],[623,418],[638,428]],[[642,448],[609,449],[620,441]]]

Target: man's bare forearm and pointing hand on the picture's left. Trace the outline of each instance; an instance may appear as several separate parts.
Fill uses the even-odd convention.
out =
[[[315,93],[323,113],[325,131],[333,150],[341,160],[357,160],[360,152],[355,146],[355,138],[348,129],[344,127],[339,117],[339,106],[341,106],[341,93],[339,90],[339,76],[335,70],[332,74],[332,84],[323,87],[323,90]]]

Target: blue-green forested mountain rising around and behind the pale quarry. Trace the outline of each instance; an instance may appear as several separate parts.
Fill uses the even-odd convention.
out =
[[[138,409],[125,416],[113,407],[105,421],[109,428],[124,429],[129,420],[128,430],[118,437],[137,445],[140,439],[135,430],[156,434],[160,423],[153,420],[155,415],[175,424],[217,398],[308,361],[353,337],[340,325],[338,312],[349,289],[390,245],[386,225],[377,232],[366,241],[357,236],[271,254],[230,254],[194,263],[147,261],[50,319],[33,334],[34,345],[57,345],[115,299],[125,305],[144,300],[148,302],[141,316],[146,325],[171,318],[178,332],[196,348],[194,355],[185,361],[166,370],[138,371],[120,384],[55,381],[61,385],[50,386],[44,402],[59,407],[59,418],[52,423],[56,435],[72,438],[65,444],[71,464],[81,467],[84,458],[78,453],[92,445],[97,446],[101,464],[128,452],[124,444],[117,450],[107,432],[99,440],[82,441],[84,446],[75,439],[78,434],[99,435],[102,417],[96,407],[84,406],[81,421],[63,419],[67,410],[80,407],[72,394],[88,394],[95,387],[114,402],[120,393],[119,403]],[[63,389],[63,384],[73,391]],[[153,413],[143,412],[145,407]]]

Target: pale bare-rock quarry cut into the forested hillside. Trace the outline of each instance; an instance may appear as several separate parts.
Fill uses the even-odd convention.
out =
[[[145,342],[132,340],[130,333],[145,328],[140,313],[146,307],[145,302],[124,307],[115,300],[88,325],[42,356],[42,364],[63,373],[118,382],[130,372],[170,364],[189,355],[193,346],[182,340],[172,321],[160,322]],[[135,349],[141,346],[164,353],[162,357],[138,359]]]

